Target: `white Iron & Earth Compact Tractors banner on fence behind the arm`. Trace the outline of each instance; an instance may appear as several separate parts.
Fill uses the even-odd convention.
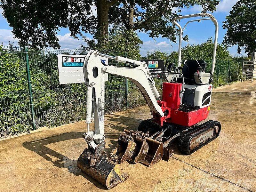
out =
[[[84,83],[85,55],[58,55],[60,84]],[[108,58],[100,57],[101,62],[108,65]],[[108,74],[105,74],[108,80]]]

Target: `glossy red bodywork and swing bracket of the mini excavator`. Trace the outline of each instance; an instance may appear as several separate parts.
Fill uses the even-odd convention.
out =
[[[161,117],[159,114],[153,113],[154,120],[161,126],[163,126],[163,122],[168,122],[190,127],[208,117],[210,106],[190,112],[179,110],[181,89],[181,83],[163,83],[163,100],[157,102],[165,116]]]

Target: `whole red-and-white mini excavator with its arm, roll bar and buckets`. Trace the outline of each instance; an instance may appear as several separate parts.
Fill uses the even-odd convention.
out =
[[[177,20],[200,17],[186,23],[181,28]],[[189,22],[212,20],[215,24],[215,39],[212,68],[205,72],[204,60],[187,60],[181,67],[182,34]],[[209,114],[212,96],[212,76],[218,37],[218,22],[208,13],[198,13],[176,17],[172,22],[179,28],[178,66],[166,63],[161,75],[162,99],[155,81],[145,62],[120,56],[102,54],[91,50],[84,61],[84,79],[87,85],[86,123],[87,132],[83,137],[88,144],[77,160],[83,172],[106,186],[108,189],[128,179],[129,175],[119,168],[119,164],[130,161],[146,166],[161,159],[168,161],[171,153],[167,148],[174,141],[183,154],[191,154],[203,147],[220,134],[220,122],[209,120],[202,124]],[[103,56],[129,67],[106,65],[100,61]],[[105,75],[114,74],[132,81],[141,91],[152,114],[152,118],[140,123],[137,131],[124,129],[116,147],[109,157],[104,151],[104,104]],[[94,131],[90,123],[94,117]]]

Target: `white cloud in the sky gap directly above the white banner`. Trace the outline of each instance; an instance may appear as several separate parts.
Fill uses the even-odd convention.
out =
[[[86,45],[84,40],[75,39],[74,37],[70,36],[70,33],[66,33],[63,36],[58,35],[57,37],[60,39],[59,44],[61,49],[76,49],[80,47],[80,44]]]

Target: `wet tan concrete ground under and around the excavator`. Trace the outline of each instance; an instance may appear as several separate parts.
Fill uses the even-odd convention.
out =
[[[208,119],[221,122],[220,136],[189,156],[170,146],[169,162],[120,165],[130,178],[109,191],[255,191],[256,82],[213,90]],[[142,106],[106,115],[106,151],[118,135],[150,118]],[[93,124],[91,124],[93,127]],[[103,191],[76,166],[87,147],[84,121],[0,141],[0,191]]]

